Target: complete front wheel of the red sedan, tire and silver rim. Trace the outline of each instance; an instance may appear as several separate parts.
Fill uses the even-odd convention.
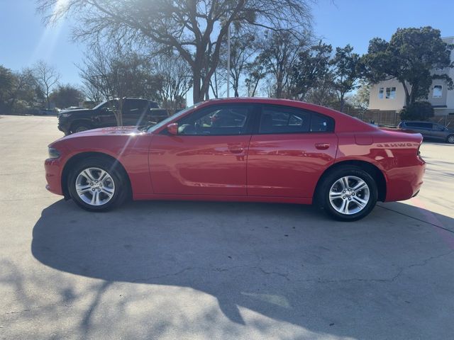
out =
[[[90,157],[77,164],[68,180],[71,198],[90,211],[114,208],[128,196],[128,185],[118,165]]]

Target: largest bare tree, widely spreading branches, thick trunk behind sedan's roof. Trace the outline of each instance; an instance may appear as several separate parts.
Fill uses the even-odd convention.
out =
[[[156,42],[192,69],[194,102],[204,99],[233,21],[294,34],[309,26],[306,0],[38,0],[48,21],[71,16],[76,38]]]

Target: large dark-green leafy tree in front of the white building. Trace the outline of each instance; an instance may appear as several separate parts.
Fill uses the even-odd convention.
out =
[[[391,40],[370,40],[367,54],[363,55],[359,71],[368,81],[398,79],[405,91],[409,106],[419,98],[427,98],[433,79],[444,79],[453,89],[453,79],[446,69],[453,67],[450,51],[453,45],[441,40],[440,30],[430,26],[399,28]]]

